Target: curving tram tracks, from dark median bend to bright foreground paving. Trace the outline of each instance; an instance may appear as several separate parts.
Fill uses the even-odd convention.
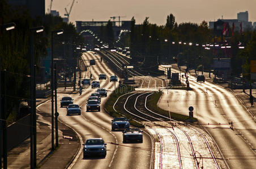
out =
[[[156,148],[157,152],[155,151],[155,153],[159,153],[157,155],[159,159],[157,158],[157,161],[155,161],[155,168],[200,168],[203,167],[202,164],[211,166],[211,168],[220,168],[211,145],[204,136],[205,134],[190,125],[173,119],[170,123],[170,117],[150,110],[147,107],[147,99],[150,95],[152,95],[152,92],[135,92],[122,95],[118,100],[127,96],[125,99],[122,98],[122,100],[125,100],[122,104],[123,111],[133,116],[136,121],[146,124],[147,128],[159,138],[160,147]],[[118,100],[113,107],[116,106]],[[197,137],[196,140],[195,136]],[[200,144],[197,143],[198,140],[200,140]],[[176,145],[175,149],[169,147],[173,144]],[[202,155],[197,157],[197,154]],[[219,159],[219,161],[222,161],[222,159]]]

